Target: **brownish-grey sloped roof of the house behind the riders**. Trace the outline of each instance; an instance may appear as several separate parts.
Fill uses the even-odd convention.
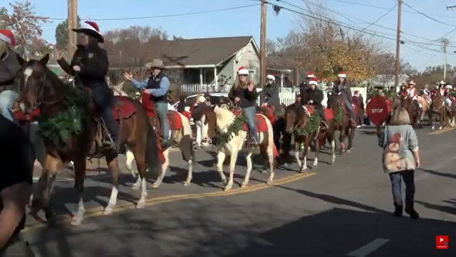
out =
[[[156,58],[161,58],[167,66],[213,66],[231,58],[249,43],[259,54],[252,36],[161,41],[155,52]]]

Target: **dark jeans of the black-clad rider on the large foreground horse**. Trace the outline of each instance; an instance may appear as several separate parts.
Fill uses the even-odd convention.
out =
[[[110,94],[108,85],[98,83],[93,86],[93,103],[103,117],[106,127],[108,127],[111,139],[115,144],[118,143],[118,127],[113,116],[113,95]]]

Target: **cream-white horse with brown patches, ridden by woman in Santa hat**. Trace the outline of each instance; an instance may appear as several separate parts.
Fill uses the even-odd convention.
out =
[[[221,132],[227,132],[227,128],[229,125],[234,122],[234,115],[233,112],[227,110],[223,107],[214,107],[214,112],[217,117],[217,129]],[[259,114],[257,114],[259,115]],[[269,178],[267,183],[270,184],[274,179],[274,140],[273,140],[273,130],[271,122],[266,118],[266,116],[261,115],[264,118],[266,125],[267,125],[267,132],[259,132],[259,147],[261,150],[261,154],[264,156],[264,168],[269,164]],[[231,155],[230,163],[229,163],[229,180],[226,184],[224,190],[228,191],[233,187],[233,175],[234,175],[234,168],[236,167],[236,159],[237,154],[244,145],[244,142],[247,140],[247,132],[242,130],[239,131],[238,135],[231,135],[231,140],[224,144],[222,147],[219,147],[218,154],[217,154],[217,169],[222,179],[222,182],[227,183],[227,177],[225,177],[223,173],[223,162],[225,156],[227,154]],[[247,187],[249,184],[250,172],[252,171],[252,148],[247,148],[247,173],[244,178],[244,182],[242,182],[241,187]]]

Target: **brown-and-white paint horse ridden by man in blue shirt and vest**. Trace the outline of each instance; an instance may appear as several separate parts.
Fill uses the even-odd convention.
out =
[[[145,108],[147,112],[147,116],[150,119],[150,124],[155,127],[155,130],[160,130],[160,119],[155,112],[155,109],[150,101],[150,95],[142,93],[141,95],[141,103],[142,106]],[[167,111],[167,120],[168,124],[170,125],[170,142],[172,145],[178,145],[180,152],[182,153],[182,158],[188,164],[188,173],[187,179],[185,179],[184,185],[188,186],[192,182],[192,171],[193,171],[193,157],[194,157],[194,150],[193,150],[193,139],[192,139],[192,128],[190,127],[190,120],[185,117],[180,112],[175,110],[168,110]],[[162,165],[160,167],[160,172],[155,180],[154,184],[152,184],[153,188],[160,187],[162,184],[163,178],[165,177],[166,171],[170,165],[170,147],[166,147],[162,149],[159,147],[160,158],[163,159]],[[128,162],[127,162],[128,165]],[[133,174],[133,172],[132,172]],[[133,184],[133,189],[137,189],[140,185],[140,180]]]

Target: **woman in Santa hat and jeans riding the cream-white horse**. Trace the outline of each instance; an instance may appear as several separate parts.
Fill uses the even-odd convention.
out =
[[[240,67],[237,70],[237,80],[229,91],[228,97],[242,108],[249,127],[250,137],[252,137],[253,145],[255,146],[259,144],[255,125],[255,103],[257,102],[258,93],[253,82],[247,80],[248,76],[249,70],[246,68]]]

